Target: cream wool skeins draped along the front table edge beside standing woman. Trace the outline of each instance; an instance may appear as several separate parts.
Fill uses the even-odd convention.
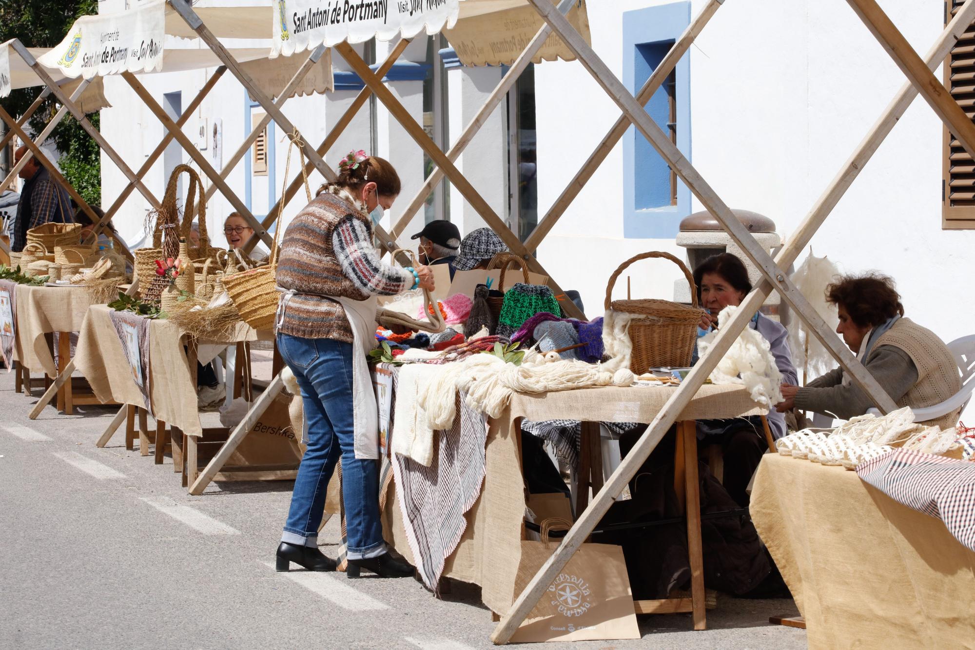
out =
[[[558,356],[556,354],[555,356]],[[633,373],[609,371],[605,366],[582,361],[547,361],[535,355],[516,366],[493,354],[473,354],[463,361],[441,366],[443,371],[419,392],[427,424],[446,429],[456,415],[456,392],[466,393],[466,403],[490,418],[501,415],[516,392],[548,392],[590,386],[630,386]]]

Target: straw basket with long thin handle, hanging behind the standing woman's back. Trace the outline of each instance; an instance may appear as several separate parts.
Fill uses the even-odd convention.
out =
[[[305,170],[304,145],[297,132],[292,133],[291,143],[288,145],[288,158],[285,161],[285,186],[281,195],[285,195],[288,188],[288,175],[292,164],[292,147],[297,147],[301,163],[301,176],[304,180],[305,195],[311,203],[311,188],[308,186],[308,173]],[[274,315],[278,310],[278,291],[275,273],[278,270],[278,257],[281,253],[278,243],[281,231],[285,228],[281,223],[281,215],[285,201],[278,203],[277,227],[274,228],[274,243],[271,253],[267,256],[267,264],[250,268],[236,273],[225,273],[222,278],[223,288],[226,289],[230,300],[237,307],[241,318],[255,330],[270,330],[274,328]]]

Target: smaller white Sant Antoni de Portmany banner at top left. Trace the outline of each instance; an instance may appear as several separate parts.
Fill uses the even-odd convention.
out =
[[[161,70],[165,10],[165,2],[150,2],[117,14],[82,17],[38,61],[72,78]]]

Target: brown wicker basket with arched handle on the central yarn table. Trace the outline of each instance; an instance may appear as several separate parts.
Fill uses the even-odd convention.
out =
[[[652,258],[670,260],[677,264],[690,285],[691,306],[656,299],[612,300],[612,288],[630,264]],[[651,251],[635,255],[613,271],[606,285],[605,310],[636,316],[628,329],[633,352],[630,370],[642,375],[654,367],[686,367],[690,365],[697,339],[697,324],[704,313],[698,307],[697,288],[690,270],[670,253]]]

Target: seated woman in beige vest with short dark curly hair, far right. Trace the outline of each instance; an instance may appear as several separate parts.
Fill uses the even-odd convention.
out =
[[[934,406],[961,389],[952,351],[933,332],[904,317],[890,277],[841,277],[827,287],[826,295],[839,311],[837,333],[898,406]],[[848,420],[875,406],[839,368],[807,386],[782,386],[782,394],[780,412],[795,407]],[[958,411],[925,424],[954,427],[957,419]]]

